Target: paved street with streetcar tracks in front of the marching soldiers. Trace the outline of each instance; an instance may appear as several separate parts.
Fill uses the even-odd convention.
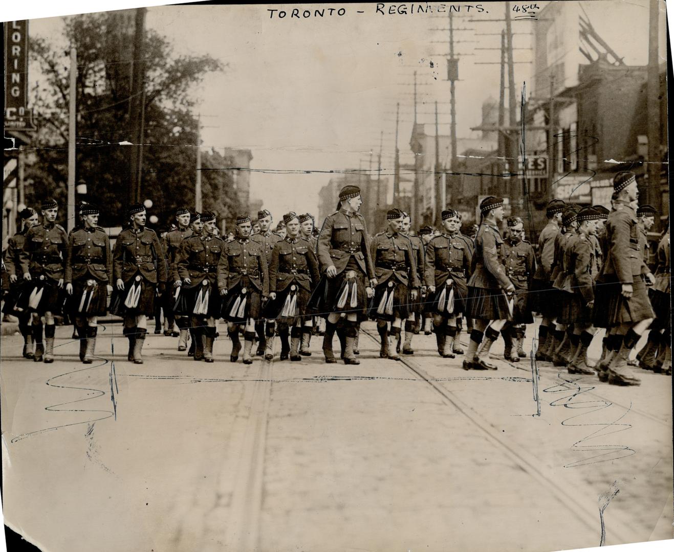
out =
[[[245,366],[226,337],[209,365],[152,335],[135,365],[120,334],[100,330],[91,366],[65,327],[51,365],[3,338],[5,522],[49,551],[591,547],[615,491],[607,545],[672,538],[667,376],[465,372],[423,335],[404,362],[362,335],[360,366],[324,364],[318,337]]]

